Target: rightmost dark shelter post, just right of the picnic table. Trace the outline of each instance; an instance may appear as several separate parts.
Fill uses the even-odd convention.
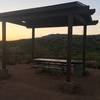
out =
[[[83,75],[86,73],[86,35],[87,35],[87,26],[83,27]]]

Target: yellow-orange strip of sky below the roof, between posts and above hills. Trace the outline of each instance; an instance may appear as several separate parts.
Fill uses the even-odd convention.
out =
[[[88,34],[99,34],[99,25],[96,26],[89,26],[88,27]],[[0,23],[0,30],[1,36],[0,40],[2,39],[2,26]],[[19,40],[19,39],[27,39],[31,38],[32,30],[28,29],[23,26],[7,23],[7,40]],[[67,27],[59,27],[59,28],[37,28],[35,29],[35,37],[41,37],[48,34],[66,34]],[[82,34],[82,27],[74,27],[73,34]]]

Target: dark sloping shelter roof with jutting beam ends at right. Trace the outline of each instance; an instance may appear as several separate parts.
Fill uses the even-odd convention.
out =
[[[95,25],[91,15],[95,9],[81,2],[0,13],[0,21],[11,22],[28,28],[68,26],[68,17],[73,16],[73,26]]]

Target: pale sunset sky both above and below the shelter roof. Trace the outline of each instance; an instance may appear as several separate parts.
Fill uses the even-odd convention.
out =
[[[22,10],[28,8],[36,8],[48,5],[55,5],[67,2],[73,2],[75,0],[0,0],[0,13]],[[95,8],[96,13],[93,15],[93,19],[100,20],[100,0],[78,0],[84,4],[90,5],[90,8]],[[32,30],[26,27],[7,23],[7,40],[19,40],[31,38]],[[67,27],[60,28],[36,28],[35,37],[41,37],[48,34],[67,33]],[[74,27],[74,34],[82,34],[82,27]],[[88,27],[88,34],[100,34],[100,24]],[[0,23],[0,40],[2,39],[2,26]]]

